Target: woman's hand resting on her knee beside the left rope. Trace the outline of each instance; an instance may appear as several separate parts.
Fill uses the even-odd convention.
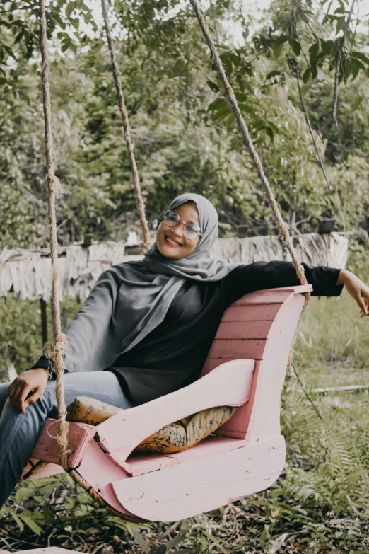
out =
[[[11,405],[25,414],[25,408],[34,404],[45,392],[49,374],[46,369],[37,367],[18,375],[8,388]],[[28,395],[32,393],[29,398]]]

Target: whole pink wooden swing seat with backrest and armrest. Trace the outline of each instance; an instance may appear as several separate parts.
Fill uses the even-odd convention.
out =
[[[270,487],[284,466],[281,390],[302,293],[311,290],[302,285],[246,294],[225,310],[200,379],[97,426],[69,423],[69,467],[90,495],[123,519],[170,522]],[[222,405],[239,408],[191,448],[176,454],[134,452],[164,425]],[[50,436],[55,422],[47,420],[32,454],[33,461],[47,465],[30,479],[63,471],[59,446]]]

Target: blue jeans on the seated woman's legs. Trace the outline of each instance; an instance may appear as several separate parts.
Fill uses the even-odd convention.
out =
[[[118,408],[131,408],[115,374],[111,371],[67,373],[66,405],[76,396],[89,396]],[[16,486],[47,417],[57,417],[55,380],[49,379],[45,393],[25,409],[13,408],[8,400],[8,386],[0,384],[0,508]]]

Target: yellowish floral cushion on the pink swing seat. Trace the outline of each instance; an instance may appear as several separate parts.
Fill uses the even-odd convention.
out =
[[[68,421],[98,425],[119,412],[111,404],[105,404],[95,398],[78,396],[67,408]],[[136,446],[135,451],[173,454],[181,452],[208,437],[228,421],[237,410],[236,406],[216,406],[184,417],[182,420],[165,425]]]

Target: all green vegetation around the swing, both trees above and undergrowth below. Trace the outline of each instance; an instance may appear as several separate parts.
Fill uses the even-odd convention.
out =
[[[193,190],[218,207],[223,233],[234,235],[235,225],[245,222],[252,233],[263,223],[275,232],[192,12],[177,0],[114,4],[117,56],[151,226],[173,195]],[[368,62],[356,16],[348,21],[351,5],[341,0],[337,7],[274,0],[262,28],[250,34],[254,21],[233,1],[214,1],[205,15],[283,216],[300,231],[315,231],[320,217],[335,217],[338,229],[353,231],[348,268],[367,279]],[[46,246],[37,2],[3,0],[0,11],[0,248]],[[241,45],[230,36],[230,19],[243,28]],[[78,241],[86,231],[102,241],[125,238],[139,226],[102,30],[81,0],[53,2],[48,28],[57,174],[64,185],[59,240]],[[73,301],[65,306],[70,315],[78,311]],[[23,371],[40,353],[39,307],[9,295],[0,302],[0,318],[0,378],[6,381],[11,363]],[[358,320],[348,296],[311,299],[294,362],[305,391],[291,374],[283,392],[286,472],[268,492],[181,521],[184,548],[368,550],[368,395],[313,392],[368,382],[367,323]],[[47,536],[57,546],[122,554],[133,551],[137,531],[158,546],[177,529],[111,517],[66,475],[19,485],[1,513],[1,539],[13,549],[21,548],[11,541],[19,533],[24,544],[43,545]]]

